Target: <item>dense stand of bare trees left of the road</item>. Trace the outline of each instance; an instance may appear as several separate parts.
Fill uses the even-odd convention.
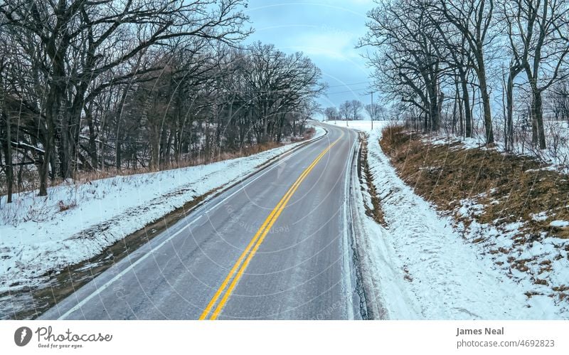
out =
[[[161,169],[302,134],[323,89],[302,53],[243,48],[241,0],[0,4],[1,171]],[[20,186],[21,187],[21,186]]]

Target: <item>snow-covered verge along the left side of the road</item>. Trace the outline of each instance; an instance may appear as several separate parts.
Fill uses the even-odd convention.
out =
[[[312,139],[326,133],[315,128]],[[48,189],[47,197],[32,191],[14,195],[14,203],[1,201],[1,220],[11,224],[0,222],[0,293],[40,285],[48,278],[46,272],[57,273],[92,258],[194,198],[238,181],[304,143],[207,165],[62,184]]]

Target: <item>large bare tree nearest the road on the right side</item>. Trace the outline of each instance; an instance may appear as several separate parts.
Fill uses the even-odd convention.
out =
[[[440,127],[440,53],[423,1],[385,1],[368,12],[368,33],[359,46],[381,48],[368,56],[376,86],[420,108],[425,129]]]

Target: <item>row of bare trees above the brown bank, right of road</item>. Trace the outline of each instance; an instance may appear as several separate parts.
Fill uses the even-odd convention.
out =
[[[546,149],[544,112],[569,121],[569,1],[385,0],[368,19],[376,86],[415,127],[472,137],[482,122],[506,149],[527,129]]]

